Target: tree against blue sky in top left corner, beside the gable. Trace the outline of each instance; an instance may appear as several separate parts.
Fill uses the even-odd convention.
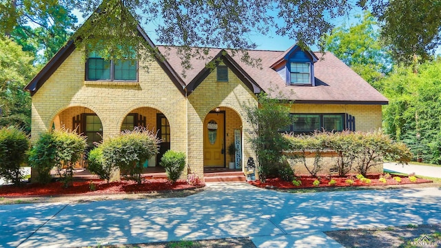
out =
[[[34,53],[42,64],[68,41],[70,28],[77,21],[58,1],[3,1],[0,11],[3,34],[14,39],[23,51]]]

